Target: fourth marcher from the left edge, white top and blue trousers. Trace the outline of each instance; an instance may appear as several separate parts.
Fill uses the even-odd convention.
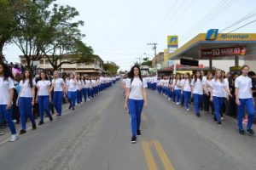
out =
[[[54,71],[54,79],[51,81],[51,91],[54,90],[54,105],[57,117],[61,118],[63,92],[65,93],[65,82],[59,77],[58,71]]]

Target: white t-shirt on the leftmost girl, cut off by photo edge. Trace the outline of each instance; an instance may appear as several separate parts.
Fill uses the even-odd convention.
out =
[[[9,102],[9,89],[15,88],[15,82],[11,77],[3,81],[0,77],[0,105],[8,105]]]

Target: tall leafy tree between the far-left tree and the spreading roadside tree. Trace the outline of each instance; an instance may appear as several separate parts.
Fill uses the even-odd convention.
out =
[[[17,30],[14,42],[26,59],[27,67],[32,61],[43,57],[43,49],[49,44],[44,29],[49,19],[49,8],[55,0],[27,1],[26,8],[15,16]]]

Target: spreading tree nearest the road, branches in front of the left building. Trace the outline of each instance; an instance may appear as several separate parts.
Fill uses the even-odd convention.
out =
[[[79,12],[70,6],[54,7],[49,11],[44,26],[44,40],[48,42],[42,49],[54,70],[63,64],[92,62],[95,58],[91,47],[86,46],[81,39],[84,37],[79,30],[84,22],[71,22]]]

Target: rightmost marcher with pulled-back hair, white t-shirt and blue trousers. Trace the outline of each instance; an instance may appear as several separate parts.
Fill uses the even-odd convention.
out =
[[[245,134],[242,127],[242,118],[244,116],[244,107],[247,107],[247,133],[254,136],[253,132],[253,119],[254,119],[254,104],[253,104],[253,91],[252,91],[252,79],[247,76],[249,71],[248,65],[243,65],[241,67],[241,76],[236,78],[235,88],[236,88],[236,105],[238,106],[238,131],[241,134]]]

